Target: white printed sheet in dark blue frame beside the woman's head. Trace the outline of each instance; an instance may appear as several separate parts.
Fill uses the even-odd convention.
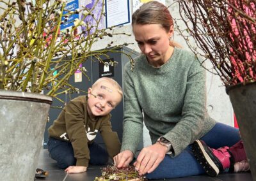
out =
[[[106,27],[130,24],[129,0],[105,0]]]

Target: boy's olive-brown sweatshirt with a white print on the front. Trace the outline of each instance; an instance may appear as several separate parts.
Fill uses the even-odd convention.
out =
[[[72,143],[76,166],[88,166],[90,151],[88,144],[92,143],[97,133],[100,133],[109,156],[120,152],[121,143],[116,132],[112,131],[111,115],[91,120],[87,112],[86,96],[72,99],[49,127],[49,136]]]

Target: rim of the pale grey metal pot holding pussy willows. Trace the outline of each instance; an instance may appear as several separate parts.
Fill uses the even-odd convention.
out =
[[[52,104],[52,97],[40,93],[0,90],[0,99],[15,99]]]

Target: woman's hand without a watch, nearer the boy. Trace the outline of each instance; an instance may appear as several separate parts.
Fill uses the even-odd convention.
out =
[[[124,150],[117,154],[113,159],[117,168],[127,167],[133,159],[133,153],[130,150]]]

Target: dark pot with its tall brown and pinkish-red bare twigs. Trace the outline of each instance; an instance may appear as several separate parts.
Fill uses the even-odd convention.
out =
[[[241,137],[256,180],[256,1],[177,1],[186,29],[195,39],[189,48],[210,61],[220,76],[236,114]]]

